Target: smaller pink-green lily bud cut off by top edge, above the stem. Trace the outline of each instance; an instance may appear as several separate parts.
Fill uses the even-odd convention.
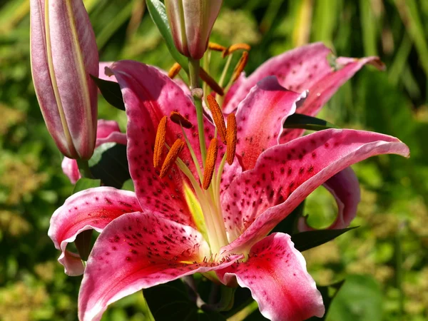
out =
[[[223,0],[165,0],[175,47],[184,56],[200,59]]]

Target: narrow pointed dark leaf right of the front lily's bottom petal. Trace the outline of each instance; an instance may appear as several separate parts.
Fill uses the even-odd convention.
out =
[[[291,236],[291,240],[295,243],[295,248],[300,252],[315,248],[319,245],[327,243],[330,240],[337,238],[337,236],[346,233],[348,230],[358,228],[342,228],[340,230],[310,230],[307,232],[297,233]]]

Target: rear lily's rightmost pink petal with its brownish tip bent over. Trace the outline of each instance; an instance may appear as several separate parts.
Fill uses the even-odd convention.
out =
[[[308,116],[317,115],[322,106],[332,98],[340,86],[354,76],[365,64],[369,63],[380,70],[384,68],[379,58],[374,56],[360,59],[339,57],[335,63],[337,64],[337,70],[332,69],[322,79],[308,88],[309,95],[302,106],[297,108],[296,113]],[[302,136],[303,132],[304,130],[302,129],[287,129],[282,133],[280,142],[287,143],[294,138]]]

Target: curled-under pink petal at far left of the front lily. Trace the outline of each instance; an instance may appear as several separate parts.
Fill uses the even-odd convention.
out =
[[[116,188],[90,188],[67,198],[52,215],[48,231],[55,248],[62,252],[58,261],[66,274],[83,273],[83,264],[76,263],[76,255],[66,255],[67,244],[73,242],[76,235],[90,229],[101,232],[115,218],[136,211],[141,211],[141,207],[135,193]]]

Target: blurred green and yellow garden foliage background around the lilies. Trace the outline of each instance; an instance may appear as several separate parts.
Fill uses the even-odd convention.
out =
[[[102,61],[131,58],[168,69],[173,61],[143,0],[87,0]],[[397,136],[412,157],[355,165],[360,228],[304,253],[320,285],[346,279],[327,320],[428,320],[428,1],[227,0],[212,40],[252,46],[251,73],[270,56],[324,41],[340,56],[378,55],[320,115],[348,128]],[[215,56],[215,53],[213,53]],[[235,57],[238,60],[238,57]],[[217,63],[224,63],[220,59]],[[47,236],[49,218],[73,186],[44,126],[31,83],[29,1],[0,4],[0,320],[76,320],[81,277],[67,277]],[[100,98],[100,118],[123,113]],[[320,188],[305,213],[315,226],[335,215]],[[103,320],[143,320],[141,294]],[[238,319],[236,319],[238,320]]]

